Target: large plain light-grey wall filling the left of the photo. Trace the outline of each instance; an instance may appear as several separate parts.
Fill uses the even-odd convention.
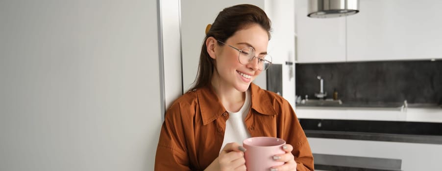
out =
[[[0,1],[0,170],[148,171],[157,4]]]

